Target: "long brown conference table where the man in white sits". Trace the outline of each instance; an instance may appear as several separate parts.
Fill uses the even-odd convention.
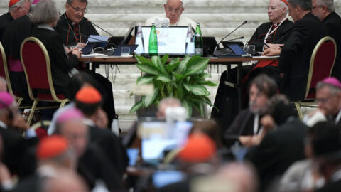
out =
[[[81,57],[80,62],[92,63],[91,70],[94,72],[99,65],[135,65],[136,58],[126,57]],[[181,60],[181,59],[180,59]],[[234,87],[238,92],[238,110],[242,110],[242,65],[247,62],[258,62],[262,60],[279,60],[279,56],[257,56],[257,57],[235,57],[235,58],[210,58],[209,65],[227,65],[227,71],[231,69],[231,65],[237,65],[237,83],[225,82],[226,85]],[[171,58],[168,59],[171,61]],[[227,73],[228,75],[229,73]],[[228,79],[228,78],[227,78]]]

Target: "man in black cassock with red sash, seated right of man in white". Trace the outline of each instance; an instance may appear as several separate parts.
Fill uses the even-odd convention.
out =
[[[288,21],[286,18],[288,6],[286,1],[281,0],[271,0],[268,6],[268,16],[269,21],[267,23],[261,24],[254,35],[249,41],[249,45],[255,45],[256,51],[263,51],[265,43],[271,47],[278,47],[278,44],[283,44],[286,42],[288,34],[293,28],[293,23]],[[243,67],[242,78],[247,75],[251,70],[251,73],[247,75],[244,80],[243,86],[244,90],[247,90],[247,84],[252,78],[256,77],[261,73],[269,75],[274,78],[277,83],[279,83],[279,73],[276,69],[278,62],[276,61],[266,61],[257,63],[257,65],[250,65]],[[237,80],[237,68],[232,69],[229,72],[229,79],[227,80],[226,71],[220,76],[220,83],[217,90],[217,95],[215,96],[215,107],[212,110],[212,117],[220,123],[220,127],[226,129],[233,122],[234,118],[237,116],[237,90],[232,87],[225,85],[225,81],[236,82]],[[248,80],[247,80],[248,79]],[[246,99],[247,100],[247,99]]]

